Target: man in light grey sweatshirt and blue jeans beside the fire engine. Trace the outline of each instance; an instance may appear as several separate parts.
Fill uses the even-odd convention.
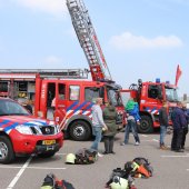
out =
[[[106,130],[108,129],[103,121],[102,109],[100,107],[101,105],[102,105],[102,98],[97,98],[96,103],[91,108],[92,109],[92,135],[94,136],[94,141],[90,148],[97,151],[98,151],[99,142],[101,141],[101,137],[102,137],[102,128],[105,128]],[[98,156],[101,157],[102,155],[98,152]]]

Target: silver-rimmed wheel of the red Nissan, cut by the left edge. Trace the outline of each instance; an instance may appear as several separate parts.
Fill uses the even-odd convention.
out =
[[[12,143],[6,136],[0,136],[0,163],[10,163],[16,158]]]

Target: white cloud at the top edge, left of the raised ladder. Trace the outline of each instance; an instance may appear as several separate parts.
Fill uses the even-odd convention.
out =
[[[12,0],[20,6],[31,10],[43,11],[51,14],[62,14],[68,12],[66,0]]]

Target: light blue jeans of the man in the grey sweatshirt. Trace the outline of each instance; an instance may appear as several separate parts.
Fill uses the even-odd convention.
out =
[[[102,137],[102,127],[92,127],[92,135],[96,137],[96,139],[90,148],[98,150],[98,146]]]

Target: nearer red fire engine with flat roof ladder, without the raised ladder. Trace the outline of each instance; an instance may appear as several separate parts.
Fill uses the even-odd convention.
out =
[[[54,117],[61,129],[74,140],[91,137],[91,107],[97,97],[112,101],[119,112],[117,122],[122,123],[119,86],[86,79],[87,74],[82,70],[0,70],[0,86],[7,83],[3,96],[7,93],[19,100],[20,93],[24,93],[33,100],[34,116]],[[53,108],[51,102],[54,98]]]

